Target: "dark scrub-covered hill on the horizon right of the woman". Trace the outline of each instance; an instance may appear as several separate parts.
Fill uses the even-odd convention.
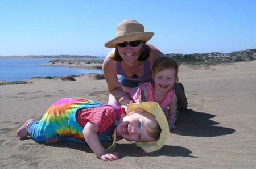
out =
[[[174,58],[179,64],[217,65],[229,62],[256,60],[256,49],[248,49],[231,53],[195,53],[195,54],[166,54]]]

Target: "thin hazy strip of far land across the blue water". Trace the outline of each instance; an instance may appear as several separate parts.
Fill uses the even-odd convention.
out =
[[[53,59],[68,59],[68,58],[80,58],[83,60],[97,60],[101,59],[98,56],[90,56],[90,55],[26,55],[26,56],[0,56],[0,58],[53,58]]]

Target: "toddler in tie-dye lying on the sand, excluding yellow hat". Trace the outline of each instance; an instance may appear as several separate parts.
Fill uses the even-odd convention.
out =
[[[125,108],[117,105],[102,105],[84,98],[64,98],[54,103],[41,120],[27,120],[17,134],[19,137],[29,135],[40,143],[85,141],[98,158],[117,160],[118,155],[106,151],[100,141],[114,140],[114,143],[118,137],[128,141],[152,142],[159,140],[160,126],[152,113],[140,108],[127,115]],[[147,152],[153,150],[142,149]]]

